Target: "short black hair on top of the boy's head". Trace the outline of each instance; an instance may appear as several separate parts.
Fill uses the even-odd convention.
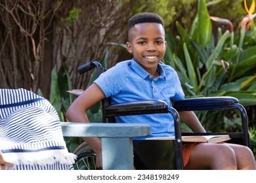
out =
[[[131,29],[136,24],[158,23],[163,25],[163,18],[153,12],[141,12],[132,16],[128,22],[128,28]]]

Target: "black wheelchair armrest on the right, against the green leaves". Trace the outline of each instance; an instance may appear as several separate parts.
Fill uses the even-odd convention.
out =
[[[235,97],[198,97],[175,102],[174,108],[182,110],[215,110],[229,108],[238,103]]]

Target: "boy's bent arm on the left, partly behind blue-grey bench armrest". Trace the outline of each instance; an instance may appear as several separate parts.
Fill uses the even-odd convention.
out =
[[[70,122],[86,122],[89,123],[89,119],[87,118],[86,111],[96,105],[99,101],[105,98],[104,93],[96,85],[93,83],[85,92],[83,92],[68,108],[66,115],[68,116],[68,120]],[[93,151],[97,154],[97,162],[96,166],[100,168],[101,165],[101,157],[102,157],[102,149],[101,149],[101,141],[97,137],[83,137],[83,140],[91,146]]]

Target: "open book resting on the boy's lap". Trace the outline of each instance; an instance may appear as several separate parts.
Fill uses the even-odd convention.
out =
[[[175,137],[151,137],[145,140],[174,140]],[[230,140],[229,135],[194,135],[182,136],[182,142],[208,142],[218,143]]]

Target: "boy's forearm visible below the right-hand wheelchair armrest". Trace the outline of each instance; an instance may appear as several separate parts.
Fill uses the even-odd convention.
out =
[[[182,122],[184,122],[192,131],[198,133],[205,133],[205,129],[198,120],[198,117],[192,111],[179,111]]]

